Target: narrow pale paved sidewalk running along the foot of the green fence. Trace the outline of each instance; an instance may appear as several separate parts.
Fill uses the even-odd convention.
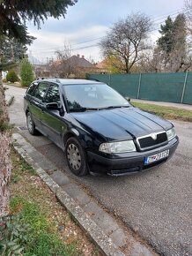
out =
[[[164,107],[174,107],[177,109],[186,109],[192,111],[192,105],[188,104],[181,104],[181,103],[172,103],[172,102],[151,102],[151,101],[144,101],[144,100],[138,100],[138,99],[131,99],[130,102],[143,102],[153,105],[159,105]]]

